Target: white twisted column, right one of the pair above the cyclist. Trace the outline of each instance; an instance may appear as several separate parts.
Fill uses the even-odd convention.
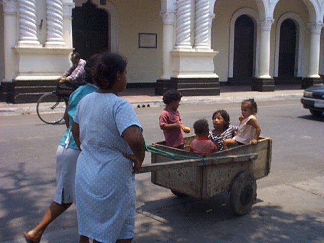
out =
[[[45,46],[65,45],[63,40],[62,0],[46,0],[47,38]]]

